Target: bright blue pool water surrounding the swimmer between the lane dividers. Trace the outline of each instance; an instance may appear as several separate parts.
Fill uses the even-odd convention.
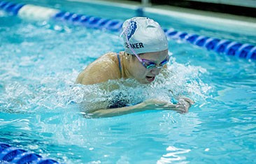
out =
[[[118,34],[0,12],[0,141],[62,163],[256,162],[255,61],[188,43],[169,40],[167,81],[160,76],[147,86],[113,83],[132,102],[171,100],[171,89],[195,100],[189,113],[152,109],[85,119],[79,104],[111,93],[74,82],[102,54],[122,50]]]

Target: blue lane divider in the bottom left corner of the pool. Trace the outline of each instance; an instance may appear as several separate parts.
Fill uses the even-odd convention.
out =
[[[0,142],[0,163],[3,164],[59,164],[57,161],[43,158],[31,151],[25,151],[18,147]]]

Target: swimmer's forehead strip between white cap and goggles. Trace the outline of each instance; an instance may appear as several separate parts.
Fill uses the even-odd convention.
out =
[[[168,56],[168,50],[159,51],[159,52],[147,52],[140,54],[142,59],[147,59],[150,61],[163,61]]]

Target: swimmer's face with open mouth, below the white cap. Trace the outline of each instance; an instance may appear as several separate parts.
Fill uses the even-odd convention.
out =
[[[157,67],[147,69],[145,66],[141,64],[140,61],[136,58],[131,64],[131,73],[138,82],[142,84],[148,84],[155,80],[155,77],[159,75],[160,70],[162,69],[161,64],[163,64],[166,59],[168,59],[168,50],[160,51],[160,52],[148,52],[141,54],[139,57],[141,59],[146,59],[148,61],[155,62]]]

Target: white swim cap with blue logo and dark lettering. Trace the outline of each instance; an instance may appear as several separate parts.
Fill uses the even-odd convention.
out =
[[[160,25],[148,17],[133,17],[122,24],[125,52],[141,54],[168,49],[168,41]]]

